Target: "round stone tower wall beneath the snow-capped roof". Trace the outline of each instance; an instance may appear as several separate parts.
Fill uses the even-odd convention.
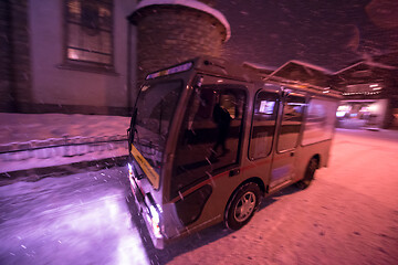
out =
[[[138,32],[138,81],[198,55],[221,56],[226,28],[209,13],[184,6],[151,6],[132,20]]]

